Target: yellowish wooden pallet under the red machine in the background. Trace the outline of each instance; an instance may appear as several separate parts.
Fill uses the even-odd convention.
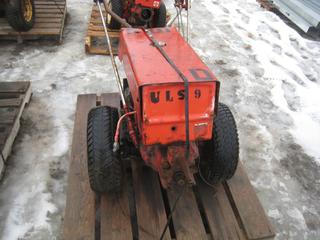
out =
[[[106,12],[103,9],[103,15],[106,19]],[[108,30],[112,42],[113,54],[118,53],[119,31]],[[97,6],[92,7],[87,36],[85,39],[85,50],[89,54],[109,55],[105,32],[103,29],[100,12]]]

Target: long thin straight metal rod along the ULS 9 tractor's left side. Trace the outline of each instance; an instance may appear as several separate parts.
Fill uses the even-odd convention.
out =
[[[114,72],[114,74],[116,76],[116,82],[117,82],[117,85],[118,85],[118,88],[119,88],[121,101],[122,101],[122,104],[124,106],[126,106],[126,101],[125,101],[125,98],[124,98],[124,95],[123,95],[123,87],[122,87],[122,84],[121,84],[121,79],[120,79],[118,67],[117,67],[116,61],[114,59],[113,52],[112,52],[112,46],[111,46],[111,41],[110,41],[110,37],[109,37],[109,34],[108,34],[108,29],[107,29],[107,26],[106,26],[106,22],[104,20],[104,16],[103,16],[103,13],[102,13],[102,9],[101,9],[100,3],[97,2],[97,5],[99,7],[99,12],[100,12],[101,20],[102,20],[102,25],[103,25],[104,33],[106,35],[107,45],[108,45],[108,49],[109,49],[109,53],[110,53],[110,57],[111,57],[112,68],[113,68],[113,72]]]

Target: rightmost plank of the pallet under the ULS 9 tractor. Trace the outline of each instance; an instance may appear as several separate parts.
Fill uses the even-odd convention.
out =
[[[264,209],[251,185],[242,164],[227,184],[227,192],[230,192],[229,198],[234,202],[242,225],[249,239],[271,238],[275,235]]]

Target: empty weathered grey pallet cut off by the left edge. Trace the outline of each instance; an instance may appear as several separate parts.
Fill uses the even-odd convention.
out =
[[[30,97],[30,82],[0,82],[0,179]]]

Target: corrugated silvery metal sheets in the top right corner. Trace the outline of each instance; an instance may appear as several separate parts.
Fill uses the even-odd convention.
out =
[[[304,32],[310,28],[320,31],[320,0],[273,0],[273,3]]]

